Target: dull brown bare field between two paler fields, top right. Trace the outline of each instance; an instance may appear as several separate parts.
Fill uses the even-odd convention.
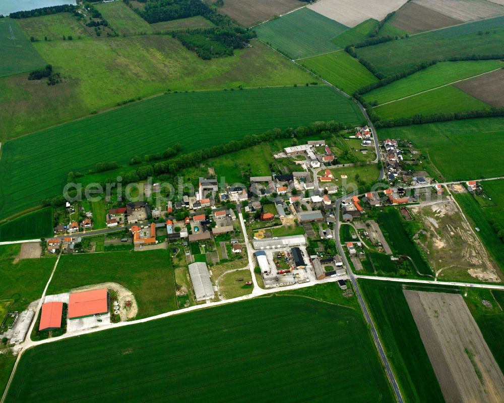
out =
[[[391,25],[412,34],[451,27],[461,23],[463,23],[462,20],[446,16],[412,2],[401,7],[390,20]]]

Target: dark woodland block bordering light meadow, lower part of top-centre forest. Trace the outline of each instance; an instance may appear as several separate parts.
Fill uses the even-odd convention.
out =
[[[210,60],[212,57],[233,55],[234,49],[244,48],[248,41],[255,37],[255,32],[226,26],[173,31],[171,35],[187,49],[195,51],[202,59]]]

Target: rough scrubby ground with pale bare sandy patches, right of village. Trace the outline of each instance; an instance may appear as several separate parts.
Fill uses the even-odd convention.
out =
[[[423,223],[420,245],[440,278],[467,272],[481,281],[500,281],[485,248],[453,202],[413,207],[411,212]]]

